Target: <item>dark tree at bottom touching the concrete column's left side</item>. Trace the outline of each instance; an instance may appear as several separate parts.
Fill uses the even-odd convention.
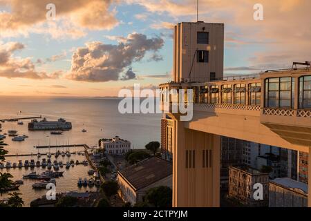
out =
[[[172,191],[168,186],[151,188],[145,195],[145,200],[156,207],[171,207]]]

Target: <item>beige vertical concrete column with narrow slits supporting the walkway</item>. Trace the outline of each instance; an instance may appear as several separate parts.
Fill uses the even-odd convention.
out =
[[[176,121],[173,207],[220,206],[220,136]]]

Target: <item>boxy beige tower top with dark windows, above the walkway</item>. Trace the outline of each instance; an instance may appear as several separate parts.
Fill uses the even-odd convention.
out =
[[[222,78],[223,52],[223,23],[178,23],[174,28],[173,81]]]

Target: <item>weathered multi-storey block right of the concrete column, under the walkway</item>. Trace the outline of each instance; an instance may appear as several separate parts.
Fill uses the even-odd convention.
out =
[[[254,198],[258,189],[255,184],[263,185],[263,200]],[[269,200],[269,175],[249,166],[229,166],[229,198],[234,198],[245,206],[267,206]]]

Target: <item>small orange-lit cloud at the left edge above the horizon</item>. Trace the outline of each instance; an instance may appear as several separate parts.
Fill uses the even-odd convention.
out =
[[[29,57],[14,57],[14,52],[22,50],[25,46],[19,42],[8,42],[0,44],[0,77],[7,78],[28,78],[28,79],[57,79],[62,72],[48,74],[46,72],[37,72],[35,64]]]

